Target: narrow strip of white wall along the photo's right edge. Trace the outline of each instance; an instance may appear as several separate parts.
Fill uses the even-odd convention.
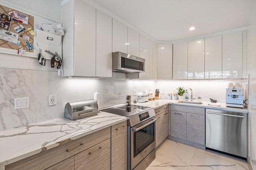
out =
[[[247,30],[247,68],[249,82],[249,157],[256,169],[256,3]]]

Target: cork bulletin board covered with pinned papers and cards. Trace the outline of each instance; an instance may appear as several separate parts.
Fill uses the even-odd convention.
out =
[[[34,52],[34,16],[0,5],[0,47]]]

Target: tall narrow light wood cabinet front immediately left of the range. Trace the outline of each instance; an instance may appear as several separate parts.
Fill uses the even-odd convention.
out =
[[[127,121],[111,127],[112,170],[127,170]]]

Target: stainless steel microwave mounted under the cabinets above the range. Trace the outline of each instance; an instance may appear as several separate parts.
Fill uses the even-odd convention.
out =
[[[145,72],[145,59],[120,51],[112,53],[112,72]]]

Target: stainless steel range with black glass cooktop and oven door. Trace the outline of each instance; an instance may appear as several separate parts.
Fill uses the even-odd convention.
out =
[[[156,114],[152,107],[124,105],[103,109],[128,119],[128,170],[144,170],[156,158]]]

